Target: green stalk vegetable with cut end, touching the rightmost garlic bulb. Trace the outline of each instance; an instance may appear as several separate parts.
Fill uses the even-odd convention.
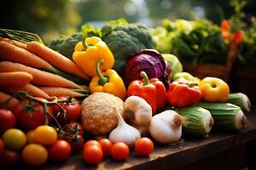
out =
[[[183,131],[190,135],[206,136],[213,126],[213,118],[210,111],[204,108],[190,106],[177,108],[177,113],[187,118]]]

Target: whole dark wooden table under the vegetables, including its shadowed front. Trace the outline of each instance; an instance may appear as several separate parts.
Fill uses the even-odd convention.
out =
[[[247,114],[247,127],[238,133],[211,132],[207,138],[181,139],[177,144],[156,145],[149,157],[126,161],[105,158],[97,166],[86,165],[82,153],[42,169],[256,169],[256,109]]]

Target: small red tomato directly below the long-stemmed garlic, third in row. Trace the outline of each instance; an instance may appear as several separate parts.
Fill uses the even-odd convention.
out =
[[[111,155],[114,160],[124,161],[129,154],[129,147],[123,142],[117,142],[111,148]]]

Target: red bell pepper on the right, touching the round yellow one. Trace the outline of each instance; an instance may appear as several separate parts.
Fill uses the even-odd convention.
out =
[[[195,104],[201,97],[202,93],[197,83],[172,82],[167,92],[169,104],[177,107]]]

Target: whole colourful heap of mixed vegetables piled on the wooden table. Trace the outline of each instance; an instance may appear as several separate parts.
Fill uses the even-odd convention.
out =
[[[201,44],[214,42],[211,53],[223,52],[211,23],[168,21],[167,28],[169,35],[176,32],[172,48],[193,62],[207,54]],[[106,156],[125,161],[131,150],[149,156],[154,143],[206,138],[212,128],[238,131],[247,122],[245,94],[230,94],[219,78],[183,72],[174,54],[154,49],[140,24],[115,20],[101,30],[84,25],[82,33],[60,37],[50,48],[28,32],[0,29],[0,36],[1,167],[14,167],[20,157],[38,167],[72,153],[88,164]],[[189,49],[189,41],[197,48]]]

